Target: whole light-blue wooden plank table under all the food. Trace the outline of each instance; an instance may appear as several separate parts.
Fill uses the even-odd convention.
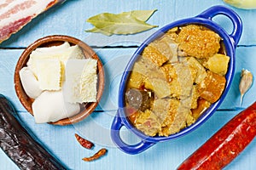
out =
[[[159,27],[175,20],[189,18],[200,14],[213,5],[225,5],[221,0],[179,0],[179,1],[116,1],[116,0],[68,0],[61,6],[51,8],[39,15],[21,31],[0,44],[0,94],[4,94],[15,104],[21,119],[49,150],[70,169],[175,169],[184,159],[217,132],[224,123],[236,116],[242,109],[255,101],[255,82],[244,97],[240,106],[238,83],[242,68],[256,75],[256,10],[232,8],[241,16],[243,32],[236,48],[236,74],[224,103],[213,116],[194,132],[171,141],[155,144],[141,154],[131,156],[117,149],[110,139],[110,125],[117,110],[118,88],[125,65],[137,46],[158,28],[136,35],[106,37],[88,33],[92,28],[85,20],[103,12],[121,13],[137,9],[158,9],[148,20],[149,24]],[[214,19],[228,32],[232,30],[230,20],[218,16]],[[94,48],[102,59],[106,72],[106,87],[100,105],[84,121],[61,127],[47,123],[35,124],[33,117],[20,105],[14,88],[14,71],[17,60],[29,44],[40,37],[61,34],[77,37]],[[105,47],[105,48],[104,48]],[[96,147],[93,150],[83,149],[74,138],[79,133],[92,140]],[[122,138],[129,143],[136,143],[137,138],[122,129]],[[105,147],[108,155],[92,162],[82,161],[85,156],[93,155]],[[256,167],[256,140],[249,144],[240,156],[225,169],[247,169]],[[0,166],[3,170],[18,169],[15,164],[0,150]]]

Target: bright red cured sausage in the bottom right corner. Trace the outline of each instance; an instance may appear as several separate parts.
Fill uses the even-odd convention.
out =
[[[245,149],[255,135],[256,102],[225,124],[177,169],[222,169]]]

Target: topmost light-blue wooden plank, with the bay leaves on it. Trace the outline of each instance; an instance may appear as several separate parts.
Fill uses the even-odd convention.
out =
[[[198,5],[200,4],[200,5]],[[2,48],[19,48],[26,47],[40,37],[45,37],[54,34],[69,35],[77,37],[90,46],[115,46],[125,45],[133,46],[143,42],[149,35],[151,35],[158,28],[151,31],[145,31],[136,35],[130,36],[112,36],[106,37],[101,34],[84,32],[92,28],[85,20],[95,14],[103,12],[118,14],[123,11],[137,10],[137,9],[153,9],[158,11],[148,20],[149,24],[160,27],[166,26],[175,20],[194,17],[202,11],[210,8],[213,5],[226,5],[222,1],[207,0],[201,3],[201,0],[179,0],[179,1],[67,1],[66,3],[52,8],[44,14],[41,14],[35,20],[25,26],[21,31],[10,37],[8,41],[0,44]],[[228,6],[230,7],[230,6]],[[230,7],[232,8],[232,7]],[[256,31],[255,24],[253,24],[255,10],[241,10],[233,8],[237,14],[241,16],[244,30],[239,44],[241,45],[255,45]],[[230,20],[226,17],[216,17],[216,21],[230,32],[232,28]]]

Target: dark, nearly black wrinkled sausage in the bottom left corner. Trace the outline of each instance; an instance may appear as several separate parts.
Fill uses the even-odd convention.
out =
[[[0,94],[0,147],[20,169],[66,169],[35,140],[13,105]]]

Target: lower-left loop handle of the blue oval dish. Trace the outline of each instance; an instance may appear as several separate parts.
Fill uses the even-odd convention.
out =
[[[115,143],[120,150],[124,151],[127,154],[138,154],[142,152],[143,150],[147,150],[149,147],[154,145],[155,143],[147,142],[147,141],[140,141],[137,144],[125,144],[125,142],[120,138],[120,128],[123,127],[124,124],[122,123],[121,118],[119,117],[119,114],[114,116],[113,123],[111,126],[111,138],[113,140],[113,143]]]

